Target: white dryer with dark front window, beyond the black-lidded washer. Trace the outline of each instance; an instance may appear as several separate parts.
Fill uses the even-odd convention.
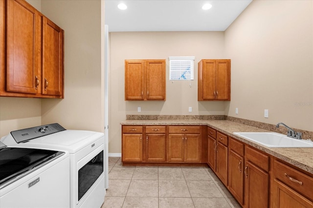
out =
[[[108,152],[101,132],[66,130],[48,124],[11,132],[1,141],[7,146],[68,151],[70,208],[100,208],[109,187]]]

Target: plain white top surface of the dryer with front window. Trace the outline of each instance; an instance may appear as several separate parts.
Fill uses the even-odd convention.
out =
[[[75,153],[101,137],[103,137],[104,142],[104,133],[101,132],[64,130],[30,139],[19,144],[15,141],[13,136],[9,134],[6,137],[2,137],[1,142],[8,147],[18,145],[19,147],[52,148]]]

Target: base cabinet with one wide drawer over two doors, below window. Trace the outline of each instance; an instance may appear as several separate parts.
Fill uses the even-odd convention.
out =
[[[169,127],[169,162],[201,162],[200,126]]]

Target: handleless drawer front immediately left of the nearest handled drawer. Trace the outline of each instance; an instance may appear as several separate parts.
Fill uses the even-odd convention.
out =
[[[246,160],[268,172],[269,157],[246,146]]]

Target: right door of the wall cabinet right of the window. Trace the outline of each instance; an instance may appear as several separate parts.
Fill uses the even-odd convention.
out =
[[[216,61],[216,99],[230,100],[230,60]]]

